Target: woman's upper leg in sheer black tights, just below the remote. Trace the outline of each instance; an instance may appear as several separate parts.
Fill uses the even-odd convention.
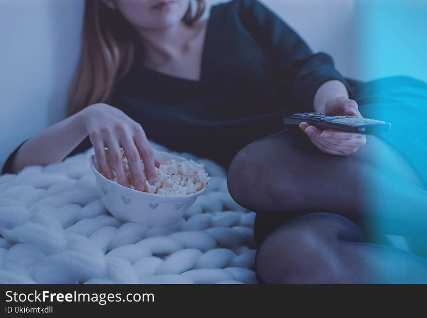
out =
[[[236,202],[257,213],[334,212],[364,230],[427,236],[424,184],[403,158],[373,136],[343,157],[317,150],[302,132],[282,131],[239,151],[227,182]]]

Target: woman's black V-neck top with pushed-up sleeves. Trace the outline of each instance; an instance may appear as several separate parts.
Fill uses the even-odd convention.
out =
[[[148,139],[227,168],[246,144],[283,130],[281,115],[312,111],[315,92],[332,79],[352,97],[328,54],[314,54],[260,2],[232,0],[211,7],[200,80],[169,76],[136,59],[110,105],[140,122]],[[90,147],[87,137],[68,156]]]

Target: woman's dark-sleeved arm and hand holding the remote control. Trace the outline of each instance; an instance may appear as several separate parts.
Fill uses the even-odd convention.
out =
[[[234,3],[243,26],[275,63],[281,87],[292,96],[294,105],[288,111],[361,116],[351,88],[328,54],[314,54],[295,30],[259,1]],[[347,155],[366,143],[363,135],[321,131],[307,123],[300,128],[317,148],[330,154]]]

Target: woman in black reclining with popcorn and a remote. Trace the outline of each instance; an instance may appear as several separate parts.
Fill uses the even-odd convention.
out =
[[[377,137],[282,124],[283,114],[303,111],[361,117],[354,99],[372,95],[373,84],[346,80],[327,54],[313,54],[256,0],[213,6],[208,20],[200,20],[203,9],[203,0],[195,15],[189,0],[86,1],[70,116],[21,144],[3,172],[61,161],[93,145],[102,173],[112,177],[108,147],[119,183],[129,186],[123,147],[143,190],[143,174],[152,183],[158,165],[148,136],[229,169],[231,195],[257,213],[261,283],[426,282],[425,259],[367,242],[363,232],[371,214],[404,224],[385,224],[390,234],[411,235],[405,229],[427,223],[423,216],[412,224],[427,207],[413,162]],[[368,178],[389,197],[386,207],[364,204],[376,202],[362,188]],[[413,211],[402,218],[398,207],[405,204]]]

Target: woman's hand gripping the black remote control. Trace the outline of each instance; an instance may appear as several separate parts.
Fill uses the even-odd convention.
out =
[[[336,97],[326,103],[325,113],[362,117],[358,108],[354,100],[346,97]],[[366,144],[365,135],[345,133],[332,129],[321,130],[309,125],[307,122],[301,122],[299,128],[310,138],[314,146],[329,154],[346,156],[356,152]]]

